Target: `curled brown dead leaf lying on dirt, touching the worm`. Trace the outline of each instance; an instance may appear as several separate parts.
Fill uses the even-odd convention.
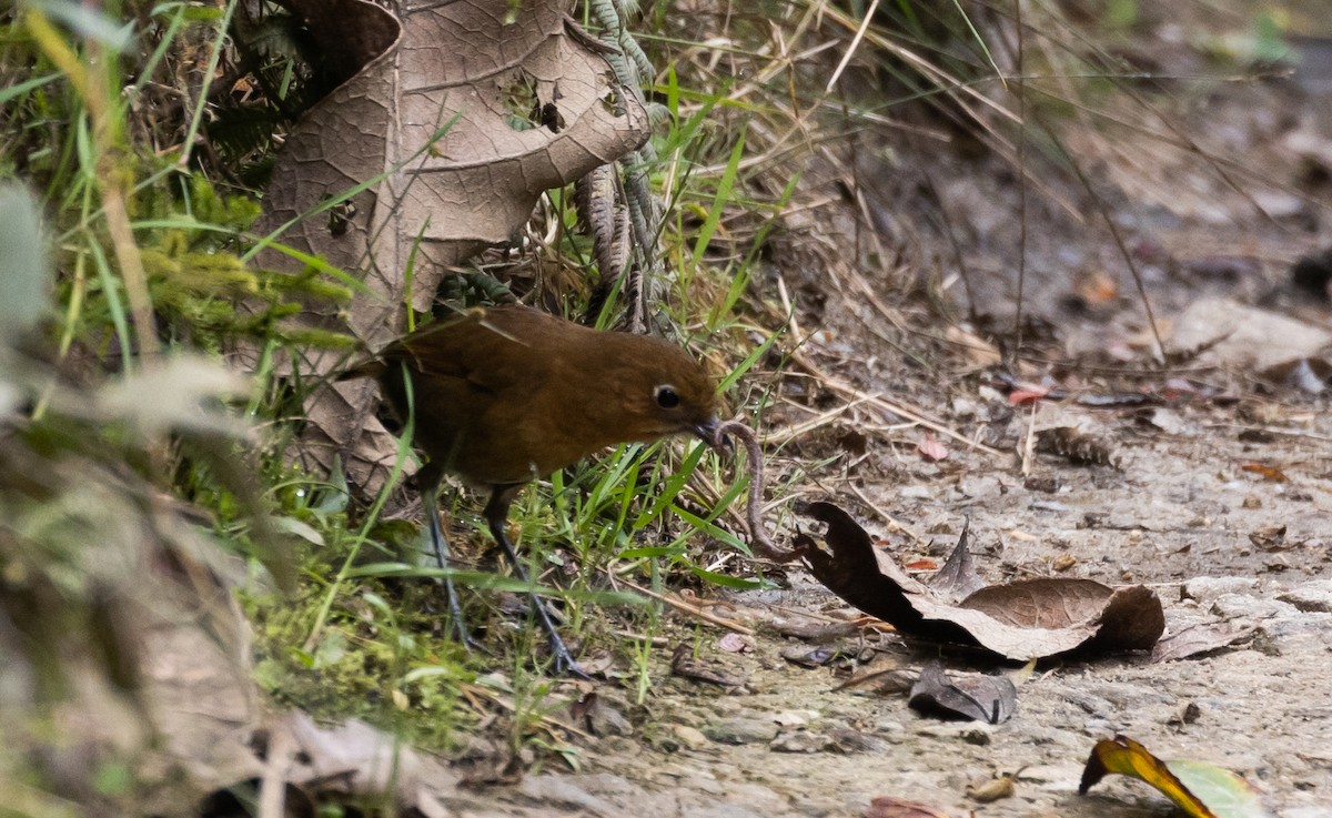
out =
[[[903,635],[1027,661],[1072,650],[1146,650],[1166,629],[1160,600],[1142,585],[1112,589],[1079,578],[1026,580],[983,588],[951,605],[906,577],[842,509],[814,502],[805,513],[829,526],[827,550],[805,534],[797,540],[814,576]]]

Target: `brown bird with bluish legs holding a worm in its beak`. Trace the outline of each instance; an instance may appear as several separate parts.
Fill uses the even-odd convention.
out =
[[[527,574],[505,532],[509,506],[534,478],[621,442],[717,432],[715,388],[683,349],[658,338],[597,332],[526,306],[476,308],[430,324],[338,380],[374,377],[400,418],[413,421],[429,458],[417,473],[441,568],[448,546],[436,493],[445,474],[490,488],[485,518],[518,576]],[[468,633],[446,580],[454,627]],[[557,671],[582,674],[545,606]]]

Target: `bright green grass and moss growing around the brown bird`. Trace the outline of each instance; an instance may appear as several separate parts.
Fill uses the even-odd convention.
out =
[[[145,120],[137,112],[136,103],[168,79],[182,37],[201,45],[205,68],[218,65],[222,35],[241,36],[233,21],[237,4],[131,5],[149,20],[133,40],[123,37],[119,19],[65,0],[25,3],[0,17],[0,76],[8,80],[0,89],[0,180],[17,179],[35,191],[52,260],[41,285],[51,301],[37,308],[47,318],[37,344],[49,350],[49,366],[32,376],[8,357],[0,361],[0,386],[16,386],[35,406],[16,438],[23,457],[37,458],[53,474],[64,474],[61,464],[71,460],[87,461],[91,474],[124,470],[129,477],[116,482],[117,509],[153,508],[155,497],[200,509],[212,542],[246,566],[250,582],[241,596],[254,625],[256,679],[277,705],[362,717],[444,750],[498,715],[514,753],[533,746],[542,750],[541,758],[577,765],[577,751],[543,726],[565,699],[530,659],[541,647],[539,631],[521,627],[506,637],[498,625],[502,614],[493,610],[503,594],[527,588],[492,572],[453,572],[469,610],[492,623],[496,655],[469,655],[442,626],[445,608],[434,582],[441,572],[422,565],[421,529],[382,517],[414,460],[406,437],[398,472],[366,506],[352,500],[354,488],[340,473],[313,476],[288,462],[305,398],[318,384],[294,377],[282,361],[310,346],[350,350],[353,341],[345,333],[294,329],[286,320],[312,300],[345,305],[362,286],[348,270],[285,246],[281,230],[253,233],[258,205],[236,179],[248,180],[262,167],[268,140],[252,145],[237,136],[234,144],[217,145],[222,161],[232,163],[229,173],[218,173],[214,160],[205,161],[196,149],[194,136],[205,132],[210,116],[202,103],[193,101],[173,121]],[[264,81],[296,100],[308,75],[294,52],[265,53]],[[213,72],[205,76],[201,97]],[[669,317],[695,352],[723,362],[717,374],[733,404],[743,394],[741,380],[767,350],[743,349],[746,326],[738,316],[750,305],[751,268],[771,225],[738,244],[727,234],[726,218],[755,205],[771,217],[795,184],[773,201],[758,203],[746,192],[746,139],[709,127],[714,109],[735,105],[726,89],[701,93],[673,80],[670,108],[679,119],[657,136],[669,161],[650,168],[654,184],[685,205],[685,216],[667,220],[661,237],[670,261]],[[233,116],[225,109],[212,113]],[[273,121],[280,120],[274,115]],[[694,172],[718,161],[719,175]],[[326,218],[330,208],[376,181],[342,191],[302,217]],[[550,196],[566,226],[555,249],[590,258],[567,199],[563,192]],[[28,249],[41,246],[35,236],[24,241]],[[265,248],[304,269],[257,266],[254,258]],[[718,257],[727,261],[718,264]],[[173,409],[181,414],[160,406],[169,404],[160,392],[143,388],[123,417],[95,418],[76,410],[79,400],[93,406],[92,397],[71,400],[52,385],[59,370],[84,384],[80,394],[93,396],[104,382],[169,370],[164,361],[182,353],[218,360],[237,349],[254,362],[249,390],[205,390],[197,404]],[[204,370],[180,370],[168,389],[185,389],[186,372]],[[190,430],[188,413],[200,406],[216,426]],[[755,406],[739,409],[747,414]],[[143,417],[159,422],[145,432],[136,425]],[[252,432],[236,437],[225,417],[244,418]],[[0,468],[0,478],[11,477]],[[565,633],[589,649],[623,657],[633,667],[625,683],[642,697],[657,671],[650,639],[626,639],[617,631],[650,637],[663,631],[663,617],[655,602],[617,590],[617,580],[657,590],[677,582],[751,584],[710,573],[702,558],[718,548],[746,549],[718,522],[745,488],[697,441],[627,445],[529,486],[514,505],[511,525],[521,552],[539,569],[534,574],[546,577],[535,581],[538,590],[562,602]],[[97,601],[80,594],[91,594],[84,581],[100,540],[87,536],[96,518],[79,513],[76,504],[92,489],[75,481],[49,490],[64,493],[65,501],[15,494],[8,528],[0,529],[0,568],[23,562],[36,566],[25,576],[80,578],[68,589],[73,602],[63,604],[92,615]],[[453,518],[464,524],[462,534],[454,534],[460,549],[490,549],[477,498],[446,496],[450,505]],[[23,528],[23,540],[9,538],[11,529],[28,521],[36,522]],[[71,562],[65,548],[76,549],[79,558]],[[501,562],[500,570],[509,569]],[[68,621],[47,613],[51,623]],[[79,623],[69,627],[80,633]],[[84,649],[92,649],[93,637],[81,642]],[[0,759],[0,783],[32,773],[16,758]],[[97,774],[104,789],[117,793],[108,798],[132,801],[133,782],[117,770]],[[40,793],[40,786],[32,790],[25,814],[61,814]]]

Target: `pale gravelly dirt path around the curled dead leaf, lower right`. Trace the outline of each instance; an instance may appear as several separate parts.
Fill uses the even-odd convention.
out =
[[[1199,426],[1224,424],[1212,412],[1188,414]],[[1320,433],[1328,432],[1324,421]],[[798,667],[782,658],[786,641],[761,637],[753,654],[709,651],[747,678],[743,693],[719,695],[681,679],[653,690],[654,730],[674,741],[602,739],[589,758],[597,773],[530,779],[503,801],[513,814],[531,815],[643,805],[653,815],[859,815],[879,795],[952,815],[1167,814],[1160,795],[1122,778],[1076,794],[1092,745],[1124,734],[1160,757],[1243,774],[1279,815],[1332,814],[1327,444],[1252,446],[1205,430],[1143,436],[1131,422],[1119,436],[1131,440],[1120,470],[1051,466],[1064,486],[1054,496],[1024,489],[1012,468],[980,462],[947,478],[867,488],[920,529],[956,530],[970,516],[990,550],[982,560],[990,577],[1044,576],[1055,558],[1072,554],[1072,574],[1150,584],[1169,631],[1211,619],[1253,627],[1240,645],[1167,663],[1143,655],[1046,663],[1019,686],[1014,718],[991,727],[920,717],[903,691],[838,691],[844,673],[836,663]],[[1235,472],[1255,456],[1289,468],[1291,482]],[[912,498],[920,486],[930,500]],[[1088,525],[1088,516],[1102,522]],[[1287,526],[1288,546],[1251,544],[1251,532],[1273,525]],[[793,590],[754,602],[840,608],[815,584],[793,580]],[[887,650],[903,667],[936,655],[920,646]],[[959,657],[948,663],[968,667]],[[691,743],[695,731],[706,741]],[[1012,798],[980,805],[966,795],[968,786],[1019,770]],[[573,793],[589,798],[577,802]]]

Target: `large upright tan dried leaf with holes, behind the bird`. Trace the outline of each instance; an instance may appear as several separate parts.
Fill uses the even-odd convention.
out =
[[[364,274],[348,322],[370,349],[397,334],[413,253],[410,301],[425,309],[446,269],[507,241],[543,191],[649,136],[638,96],[615,84],[565,0],[286,5],[328,55],[324,69],[345,81],[288,136],[261,229],[290,224],[280,242]],[[276,250],[264,262],[300,264]],[[301,316],[314,325],[341,320],[318,305]],[[394,458],[392,437],[370,416],[373,394],[366,381],[320,393],[301,453],[325,468],[345,454],[350,482],[370,493]]]

